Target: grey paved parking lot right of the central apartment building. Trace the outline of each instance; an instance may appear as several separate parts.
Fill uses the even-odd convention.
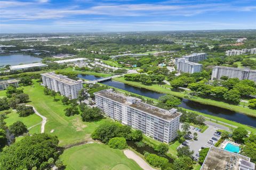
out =
[[[212,140],[212,137],[217,138],[218,140],[220,137],[216,137],[213,135],[219,128],[215,128],[212,125],[208,125],[209,128],[207,128],[203,133],[193,130],[193,126],[190,126],[190,132],[192,135],[196,132],[197,133],[197,139],[198,140],[186,140],[187,145],[189,146],[190,150],[194,150],[193,156],[196,157],[196,154],[199,154],[198,150],[201,149],[201,147],[210,148],[212,145],[207,143],[209,140]],[[214,141],[217,142],[217,141]],[[180,145],[179,147],[182,147]],[[196,157],[198,159],[198,157]]]

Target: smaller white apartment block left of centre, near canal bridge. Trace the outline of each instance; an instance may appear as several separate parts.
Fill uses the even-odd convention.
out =
[[[43,86],[60,92],[61,95],[71,99],[78,97],[78,92],[83,88],[82,80],[72,80],[65,75],[54,72],[42,73]]]

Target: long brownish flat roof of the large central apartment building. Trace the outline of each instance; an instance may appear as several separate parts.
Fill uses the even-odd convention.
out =
[[[113,92],[112,89],[101,90],[95,92],[94,94],[117,101],[118,103],[130,106],[142,112],[149,113],[166,121],[171,121],[173,118],[181,115],[181,113],[177,112],[177,109],[172,108],[170,111],[167,111],[165,109],[143,103],[139,98],[127,97],[122,94],[117,94],[116,92]]]

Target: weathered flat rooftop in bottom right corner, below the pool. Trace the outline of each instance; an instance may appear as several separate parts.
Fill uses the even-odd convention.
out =
[[[249,157],[211,146],[201,170],[242,170],[243,168],[254,169],[255,164],[250,162]]]

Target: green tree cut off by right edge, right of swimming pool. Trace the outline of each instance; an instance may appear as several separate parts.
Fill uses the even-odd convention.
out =
[[[251,158],[251,162],[256,163],[256,135],[251,134],[245,138],[244,145],[241,146],[242,155]]]

